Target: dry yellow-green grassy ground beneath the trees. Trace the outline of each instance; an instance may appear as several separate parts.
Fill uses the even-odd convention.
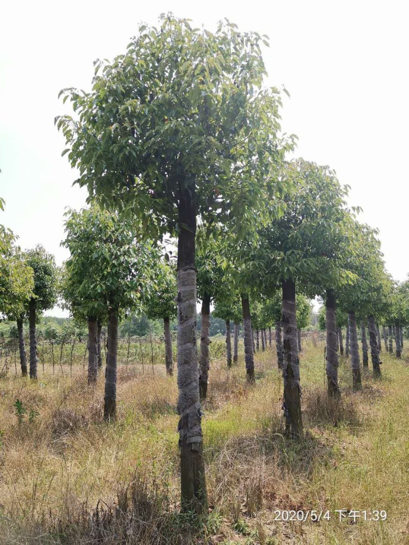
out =
[[[0,542],[409,543],[409,364],[405,353],[382,356],[382,380],[364,370],[359,392],[342,359],[342,401],[328,404],[323,344],[304,343],[301,442],[283,435],[273,350],[256,354],[250,387],[242,354],[230,371],[213,361],[203,407],[209,514],[199,521],[178,514],[177,384],[163,365],[119,369],[110,425],[104,378],[88,389],[82,366],[38,383],[3,378]],[[340,522],[340,509],[387,519]],[[329,520],[282,522],[275,510],[328,510]]]

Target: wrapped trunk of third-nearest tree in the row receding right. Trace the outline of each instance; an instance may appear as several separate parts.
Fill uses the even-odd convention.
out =
[[[336,332],[335,294],[327,289],[325,323],[327,328],[327,382],[328,395],[339,395],[338,387],[338,334]]]

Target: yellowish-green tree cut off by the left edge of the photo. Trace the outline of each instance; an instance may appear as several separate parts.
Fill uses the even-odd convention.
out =
[[[34,280],[33,270],[25,263],[20,247],[15,245],[15,241],[14,234],[0,225],[0,315],[17,323],[21,374],[26,377],[27,356],[23,321],[28,301],[34,295]]]

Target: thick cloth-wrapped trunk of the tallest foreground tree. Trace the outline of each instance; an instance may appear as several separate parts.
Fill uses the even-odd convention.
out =
[[[195,182],[179,185],[178,202],[178,424],[182,511],[207,512],[202,410],[196,344]]]

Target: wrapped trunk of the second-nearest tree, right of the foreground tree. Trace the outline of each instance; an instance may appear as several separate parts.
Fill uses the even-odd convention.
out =
[[[284,337],[284,415],[286,430],[292,437],[301,437],[301,386],[297,344],[296,284],[293,280],[282,282],[282,325]]]

